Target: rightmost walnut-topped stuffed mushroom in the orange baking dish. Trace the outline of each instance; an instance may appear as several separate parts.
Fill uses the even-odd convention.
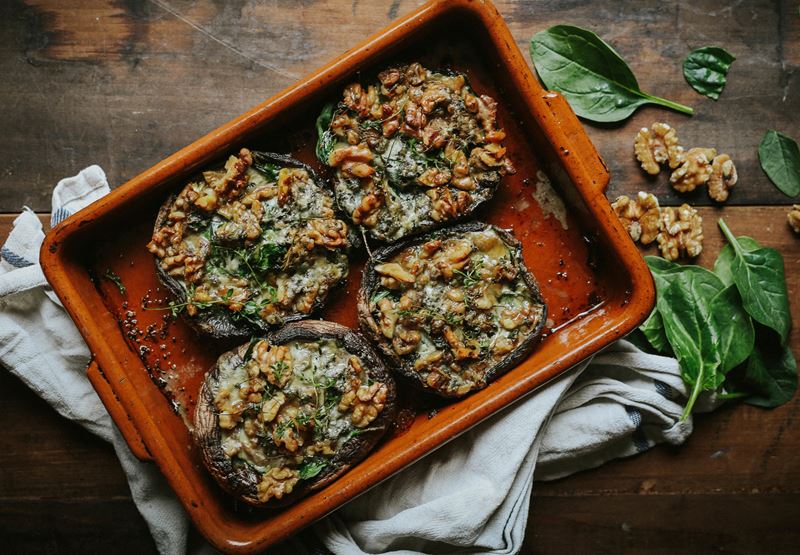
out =
[[[507,231],[471,222],[376,252],[362,329],[412,383],[444,397],[485,387],[534,347],[547,307]]]

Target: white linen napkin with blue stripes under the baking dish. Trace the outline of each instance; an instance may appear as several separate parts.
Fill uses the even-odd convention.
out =
[[[107,192],[98,166],[60,181],[53,222]],[[155,465],[131,454],[89,383],[89,351],[38,264],[43,237],[38,218],[25,209],[0,250],[0,363],[60,414],[113,444],[158,550],[183,554],[188,517]],[[692,431],[691,418],[679,422],[686,394],[677,361],[618,341],[314,531],[336,554],[516,553],[534,474],[554,479],[656,443],[682,443]],[[292,542],[279,550],[299,547]]]

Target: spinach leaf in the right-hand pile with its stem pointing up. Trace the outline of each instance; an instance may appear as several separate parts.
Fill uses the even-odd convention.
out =
[[[733,247],[731,276],[742,296],[744,309],[756,322],[778,332],[781,344],[785,343],[792,327],[792,317],[789,313],[783,258],[778,251],[770,248],[748,252],[722,218],[719,227]]]

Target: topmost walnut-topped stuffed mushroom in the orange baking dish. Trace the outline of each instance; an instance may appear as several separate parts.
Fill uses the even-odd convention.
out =
[[[317,156],[355,224],[395,241],[470,214],[514,169],[497,103],[460,73],[418,63],[352,83],[317,120]]]

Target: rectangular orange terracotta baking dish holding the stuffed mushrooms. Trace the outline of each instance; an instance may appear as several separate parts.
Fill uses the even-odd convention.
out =
[[[188,176],[241,146],[313,164],[314,119],[361,72],[419,60],[468,74],[500,103],[517,167],[475,215],[513,230],[549,305],[533,354],[488,388],[431,404],[401,391],[396,429],[326,489],[283,510],[237,506],[200,462],[184,417],[204,372],[230,345],[195,335],[168,311],[145,250],[159,204]],[[567,229],[534,193],[543,171],[566,205]],[[432,2],[327,67],[160,162],[52,230],[41,261],[94,354],[89,377],[133,452],[166,476],[199,530],[226,552],[285,539],[492,413],[632,331],[654,303],[650,274],[604,196],[608,172],[567,103],[541,89],[489,2]],[[541,200],[541,196],[539,197]],[[544,203],[547,204],[547,203]],[[364,255],[362,255],[364,256]],[[354,326],[360,265],[321,317]],[[119,276],[125,290],[109,276]],[[146,307],[146,308],[145,308]],[[100,370],[102,368],[102,370]]]

